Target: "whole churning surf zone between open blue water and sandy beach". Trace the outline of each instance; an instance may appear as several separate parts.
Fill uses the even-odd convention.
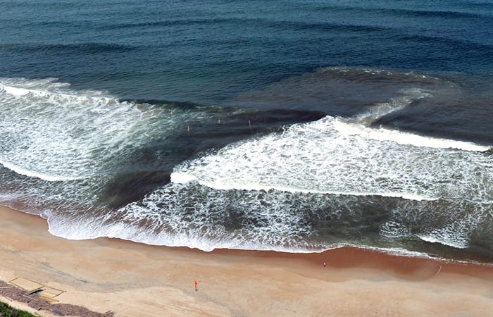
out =
[[[327,72],[340,69],[311,76]],[[256,130],[247,120],[265,113],[254,108],[120,100],[54,78],[1,78],[0,175],[10,186],[0,199],[74,240],[206,251],[467,251],[491,231],[491,146],[378,124],[445,86],[457,89],[386,76],[412,77],[417,87],[396,88],[353,116],[313,113]]]

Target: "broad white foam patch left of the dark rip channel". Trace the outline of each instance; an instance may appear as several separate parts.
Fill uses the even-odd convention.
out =
[[[132,149],[195,115],[75,91],[54,79],[0,78],[0,87],[0,163],[49,181],[113,173]]]

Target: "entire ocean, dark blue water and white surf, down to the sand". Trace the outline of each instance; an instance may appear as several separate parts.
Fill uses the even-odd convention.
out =
[[[493,1],[2,1],[0,204],[53,235],[493,263]]]

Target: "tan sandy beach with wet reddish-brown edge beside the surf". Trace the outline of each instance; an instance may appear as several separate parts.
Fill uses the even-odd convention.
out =
[[[0,228],[0,280],[28,278],[63,290],[54,297],[59,303],[115,316],[488,316],[493,311],[491,266],[354,248],[320,254],[202,252],[108,238],[64,240],[49,234],[46,220],[5,207],[0,207]]]

